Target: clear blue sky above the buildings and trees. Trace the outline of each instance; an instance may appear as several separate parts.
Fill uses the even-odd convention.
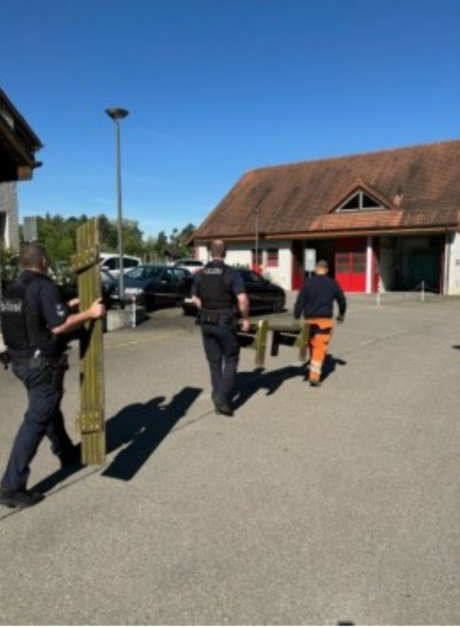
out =
[[[20,219],[196,225],[261,166],[459,139],[459,0],[0,3],[0,85],[44,144]]]

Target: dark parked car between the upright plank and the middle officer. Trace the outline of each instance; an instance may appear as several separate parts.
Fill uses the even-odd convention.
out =
[[[136,297],[146,310],[161,305],[179,305],[190,294],[191,274],[183,268],[142,263],[124,275],[125,302]],[[115,290],[118,293],[118,287]]]

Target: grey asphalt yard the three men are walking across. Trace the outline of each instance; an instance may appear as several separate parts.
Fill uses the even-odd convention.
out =
[[[181,310],[106,334],[107,465],[43,443],[45,501],[0,508],[0,624],[460,624],[460,299],[349,300],[323,387],[243,350],[234,418]],[[3,468],[11,372],[0,399]]]

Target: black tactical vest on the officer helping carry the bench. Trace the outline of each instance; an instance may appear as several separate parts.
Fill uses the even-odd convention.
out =
[[[198,297],[203,309],[232,310],[236,302],[232,290],[232,268],[225,263],[208,263],[200,273]]]

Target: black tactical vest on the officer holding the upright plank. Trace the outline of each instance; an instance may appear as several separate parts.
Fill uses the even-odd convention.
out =
[[[46,320],[32,312],[27,302],[28,287],[38,278],[49,280],[41,276],[19,279],[6,288],[0,300],[1,329],[8,349],[29,349],[49,342],[53,337]]]

